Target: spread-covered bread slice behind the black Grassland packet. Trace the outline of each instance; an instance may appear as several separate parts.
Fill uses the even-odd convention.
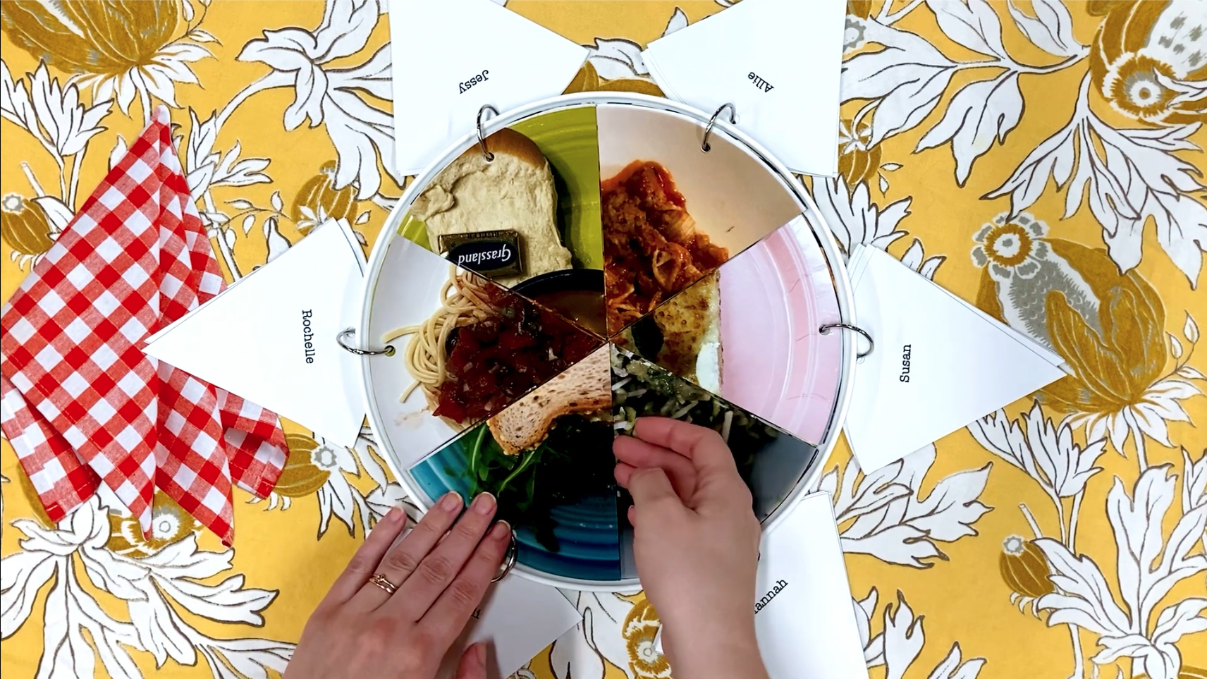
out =
[[[523,275],[497,277],[503,285],[571,267],[558,230],[558,192],[541,149],[503,128],[486,138],[495,159],[474,144],[449,163],[415,198],[412,214],[427,226],[427,242],[439,246],[449,233],[512,230],[519,233]]]

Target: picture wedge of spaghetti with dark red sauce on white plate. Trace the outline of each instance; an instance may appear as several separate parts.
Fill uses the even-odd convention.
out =
[[[408,468],[585,359],[602,340],[407,239],[390,248],[363,340],[371,407]],[[378,302],[380,301],[380,302]]]

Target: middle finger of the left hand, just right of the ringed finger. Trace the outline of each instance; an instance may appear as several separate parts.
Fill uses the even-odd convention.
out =
[[[474,498],[448,538],[424,557],[415,573],[398,587],[398,596],[391,599],[390,605],[407,620],[422,617],[473,555],[497,507],[498,503],[490,493]]]

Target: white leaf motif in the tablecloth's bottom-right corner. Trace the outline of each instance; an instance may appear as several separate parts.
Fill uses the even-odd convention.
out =
[[[1194,474],[1188,465],[1183,474]],[[1207,598],[1190,597],[1153,613],[1182,580],[1207,570],[1207,556],[1190,551],[1207,526],[1207,504],[1180,512],[1165,536],[1162,521],[1173,504],[1177,475],[1171,465],[1144,470],[1127,494],[1123,480],[1107,494],[1107,517],[1116,542],[1115,570],[1120,605],[1098,564],[1074,555],[1063,544],[1044,538],[1036,541],[1051,565],[1056,591],[1038,600],[1049,610],[1049,625],[1073,623],[1098,636],[1102,650],[1094,661],[1106,665],[1131,657],[1135,672],[1151,679],[1177,679],[1182,656],[1177,643],[1186,634],[1207,629]]]

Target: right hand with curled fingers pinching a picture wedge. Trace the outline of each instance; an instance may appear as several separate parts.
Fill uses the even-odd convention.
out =
[[[675,675],[766,677],[754,640],[759,523],[734,457],[711,429],[639,418],[613,446],[646,598]]]

